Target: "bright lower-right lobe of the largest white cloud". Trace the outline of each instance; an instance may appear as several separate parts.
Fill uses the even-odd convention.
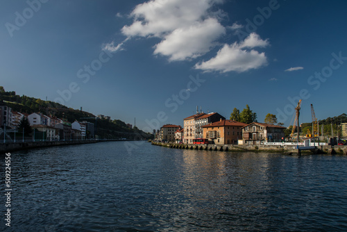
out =
[[[178,28],[155,45],[154,54],[169,56],[169,60],[196,58],[214,47],[213,42],[225,33],[217,19],[206,19],[185,28]]]

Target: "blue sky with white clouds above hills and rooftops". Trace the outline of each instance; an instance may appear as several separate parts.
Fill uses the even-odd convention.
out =
[[[1,1],[5,90],[140,129],[196,106],[292,123],[346,113],[346,1]],[[59,94],[60,92],[60,94]],[[151,122],[151,123],[148,123]]]

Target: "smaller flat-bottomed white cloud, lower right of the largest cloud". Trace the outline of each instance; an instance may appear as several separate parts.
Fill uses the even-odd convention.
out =
[[[267,65],[265,53],[255,50],[246,50],[245,47],[266,47],[267,40],[261,40],[257,34],[249,35],[240,44],[224,44],[217,52],[217,56],[208,61],[197,63],[195,69],[202,69],[207,72],[246,72],[249,69],[257,69]]]

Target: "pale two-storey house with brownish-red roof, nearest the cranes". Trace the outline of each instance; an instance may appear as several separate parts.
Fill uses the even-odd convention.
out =
[[[242,127],[244,144],[263,144],[264,142],[281,142],[285,138],[285,127],[252,122]]]

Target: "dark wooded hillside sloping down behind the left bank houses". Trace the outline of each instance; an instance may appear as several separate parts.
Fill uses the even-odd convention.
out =
[[[20,113],[43,113],[47,116],[55,116],[68,122],[88,121],[96,124],[96,135],[100,138],[151,138],[151,134],[138,129],[130,129],[125,122],[119,119],[108,121],[107,119],[95,119],[95,115],[82,110],[68,108],[53,101],[43,101],[25,95],[19,96],[15,91],[6,92],[0,86],[0,99],[3,100],[12,110]]]

